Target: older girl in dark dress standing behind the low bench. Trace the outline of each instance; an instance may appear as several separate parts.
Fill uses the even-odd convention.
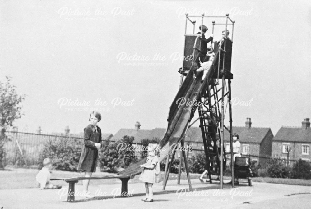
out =
[[[98,150],[101,148],[101,129],[96,124],[101,120],[98,111],[92,111],[90,114],[90,125],[84,128],[84,147],[82,148],[78,170],[85,172],[85,177],[91,177],[96,171]],[[90,180],[82,180],[86,198],[95,196],[88,191]]]

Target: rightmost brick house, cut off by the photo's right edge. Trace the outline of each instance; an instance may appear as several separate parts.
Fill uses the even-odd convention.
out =
[[[272,157],[284,159],[291,164],[299,159],[310,162],[310,119],[302,121],[302,127],[282,126],[272,140]]]

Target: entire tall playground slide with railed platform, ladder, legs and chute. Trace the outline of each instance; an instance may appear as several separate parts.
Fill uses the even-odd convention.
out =
[[[202,18],[201,25],[205,18],[222,18],[225,19],[225,23],[216,23],[212,21],[214,32],[215,25],[222,25],[222,30],[227,31],[228,25],[232,26],[231,40],[225,33],[225,37],[220,41],[219,45],[214,44],[211,50],[216,54],[213,64],[207,72],[206,79],[201,82],[202,74],[195,77],[195,70],[199,67],[199,58],[204,59],[206,54],[202,53],[202,48],[206,44],[202,40],[202,27],[201,34],[194,34],[196,21],[190,20],[190,18]],[[187,34],[187,22],[190,21],[193,24],[193,33]],[[230,21],[230,23],[228,23]],[[184,137],[187,130],[197,120],[200,121],[200,127],[202,131],[202,139],[204,144],[204,152],[206,155],[206,162],[208,165],[208,175],[216,174],[220,175],[220,188],[223,188],[223,168],[225,166],[225,152],[224,152],[224,131],[230,133],[230,148],[232,148],[232,109],[231,109],[231,79],[233,74],[231,73],[231,51],[233,40],[233,28],[234,21],[226,16],[189,16],[186,14],[186,29],[185,29],[185,47],[184,57],[192,57],[183,61],[183,68],[179,70],[181,73],[180,88],[176,94],[170,108],[167,117],[168,126],[164,138],[160,141],[160,156],[159,161],[163,161],[168,158],[170,154],[171,161],[173,161],[177,143],[181,143],[184,146]],[[185,78],[184,78],[185,76]],[[183,80],[184,78],[184,80]],[[222,80],[220,88],[217,88],[219,79]],[[228,81],[228,86],[226,84]],[[185,102],[180,102],[185,101]],[[190,102],[187,102],[190,101]],[[229,127],[224,125],[225,112],[229,107]],[[194,117],[195,111],[198,110],[199,117],[191,122]],[[172,149],[173,146],[174,148]],[[185,163],[186,173],[188,177],[189,189],[192,190],[191,181],[189,176],[188,163],[186,160],[185,151],[182,151],[182,156]],[[223,159],[223,160],[220,160]],[[231,152],[231,159],[233,159],[233,153]],[[128,167],[127,169],[118,173],[118,175],[137,175],[142,172],[140,164],[145,163],[146,159],[142,159],[136,164]],[[165,169],[165,179],[163,189],[165,189],[166,182],[169,177],[169,168]],[[231,161],[231,167],[233,168],[233,161]],[[234,171],[232,169],[232,179],[234,178]],[[234,186],[234,180],[232,180],[232,186]]]

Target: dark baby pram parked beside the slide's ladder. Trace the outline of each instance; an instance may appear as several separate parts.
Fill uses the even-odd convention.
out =
[[[238,179],[247,179],[248,186],[252,186],[252,170],[249,165],[248,157],[235,157],[234,177]],[[239,181],[237,182],[239,184]]]

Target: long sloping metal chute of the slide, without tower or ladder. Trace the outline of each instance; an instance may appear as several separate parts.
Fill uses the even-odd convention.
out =
[[[207,80],[210,80],[218,69],[218,56],[213,61],[213,65],[210,67],[207,72],[207,79],[204,82],[201,82],[202,73],[197,75],[197,79],[193,79],[193,70],[196,70],[200,67],[198,63],[198,58],[201,57],[203,60],[204,56],[200,53],[197,53],[195,56],[195,61],[191,66],[188,75],[186,76],[181,88],[179,89],[174,101],[172,102],[171,107],[169,108],[168,116],[168,127],[165,133],[165,136],[160,141],[160,156],[159,161],[163,161],[169,154],[174,150],[174,143],[179,143],[183,135],[186,134],[188,125],[193,118],[196,108],[199,106],[192,105],[190,102],[201,101],[201,93],[203,93],[207,87]],[[180,98],[185,99],[186,102],[179,106]],[[190,104],[189,104],[190,103]],[[146,157],[137,163],[129,166],[123,171],[118,172],[118,175],[137,175],[142,172],[142,169],[139,165],[146,162]]]

